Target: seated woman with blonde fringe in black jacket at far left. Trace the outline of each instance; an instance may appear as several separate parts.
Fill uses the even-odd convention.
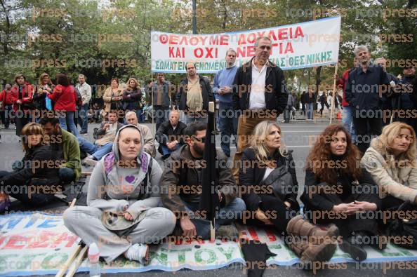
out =
[[[44,131],[38,123],[22,129],[25,156],[14,172],[0,171],[0,188],[6,194],[33,206],[46,205],[61,190],[58,170],[49,145],[44,145]]]

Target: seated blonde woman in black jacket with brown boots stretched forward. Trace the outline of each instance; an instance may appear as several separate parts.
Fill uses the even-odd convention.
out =
[[[260,122],[253,130],[251,147],[241,156],[239,186],[246,215],[251,215],[246,222],[273,225],[303,263],[331,259],[336,245],[327,238],[336,236],[338,230],[335,226],[319,229],[296,216],[300,209],[296,168],[291,151],[281,144],[281,128],[274,121]]]

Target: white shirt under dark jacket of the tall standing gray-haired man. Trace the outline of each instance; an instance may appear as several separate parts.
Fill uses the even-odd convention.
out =
[[[263,65],[260,71],[252,60],[252,85],[251,94],[249,97],[249,109],[265,109],[265,79],[266,79],[266,64]]]

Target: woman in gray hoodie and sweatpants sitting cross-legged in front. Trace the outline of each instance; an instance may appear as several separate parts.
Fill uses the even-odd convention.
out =
[[[171,234],[176,225],[173,212],[158,207],[161,174],[157,161],[143,151],[140,130],[121,127],[113,151],[95,165],[88,206],[68,208],[65,226],[86,245],[96,243],[106,262],[124,255],[146,264],[147,244]]]

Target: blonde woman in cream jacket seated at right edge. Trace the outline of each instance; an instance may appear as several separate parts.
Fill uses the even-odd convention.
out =
[[[417,204],[416,133],[394,122],[385,126],[362,157],[361,164],[378,184],[382,210],[397,209],[405,201]]]

